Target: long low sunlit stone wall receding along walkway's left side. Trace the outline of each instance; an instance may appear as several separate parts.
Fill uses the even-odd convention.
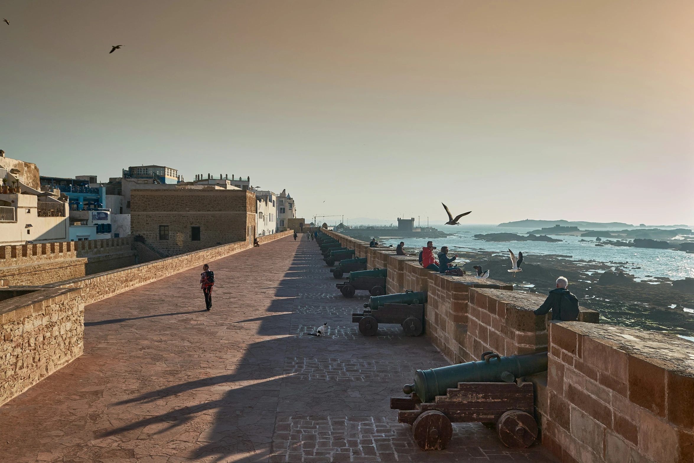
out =
[[[274,233],[273,235],[266,235],[264,237],[259,237],[258,242],[263,244],[273,241],[274,239],[292,235],[293,233],[293,231],[289,230],[281,233]],[[194,251],[192,253],[176,255],[171,258],[153,260],[152,262],[137,264],[123,269],[96,273],[73,280],[59,281],[51,284],[51,286],[65,288],[81,287],[84,289],[83,298],[85,304],[91,304],[135,287],[146,285],[147,283],[160,280],[161,278],[166,278],[167,276],[174,275],[174,273],[221,259],[239,251],[244,251],[244,249],[249,249],[251,247],[253,247],[253,244],[249,244],[246,241],[223,244],[221,246],[203,249],[202,251]]]

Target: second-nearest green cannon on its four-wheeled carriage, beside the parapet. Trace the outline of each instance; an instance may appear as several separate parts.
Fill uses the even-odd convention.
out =
[[[364,336],[375,335],[378,323],[397,323],[407,336],[419,336],[424,330],[426,301],[425,291],[414,292],[412,289],[387,296],[371,296],[369,302],[364,303],[364,312],[352,314],[352,321],[359,323],[359,332]]]

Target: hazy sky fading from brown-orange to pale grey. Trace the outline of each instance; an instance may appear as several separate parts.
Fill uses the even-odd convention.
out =
[[[0,149],[42,175],[251,176],[311,220],[433,223],[443,202],[470,224],[694,224],[692,1],[0,0],[0,17]]]

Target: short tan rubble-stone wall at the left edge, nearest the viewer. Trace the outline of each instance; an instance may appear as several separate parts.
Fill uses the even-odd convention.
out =
[[[82,290],[35,289],[0,301],[0,405],[83,352]]]

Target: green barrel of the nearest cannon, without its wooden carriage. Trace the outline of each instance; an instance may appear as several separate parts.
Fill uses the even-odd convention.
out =
[[[547,370],[547,351],[501,357],[493,352],[482,354],[484,360],[459,363],[448,367],[414,372],[414,384],[405,385],[403,392],[415,392],[422,402],[445,396],[446,389],[455,389],[459,382],[514,382],[521,376]]]

